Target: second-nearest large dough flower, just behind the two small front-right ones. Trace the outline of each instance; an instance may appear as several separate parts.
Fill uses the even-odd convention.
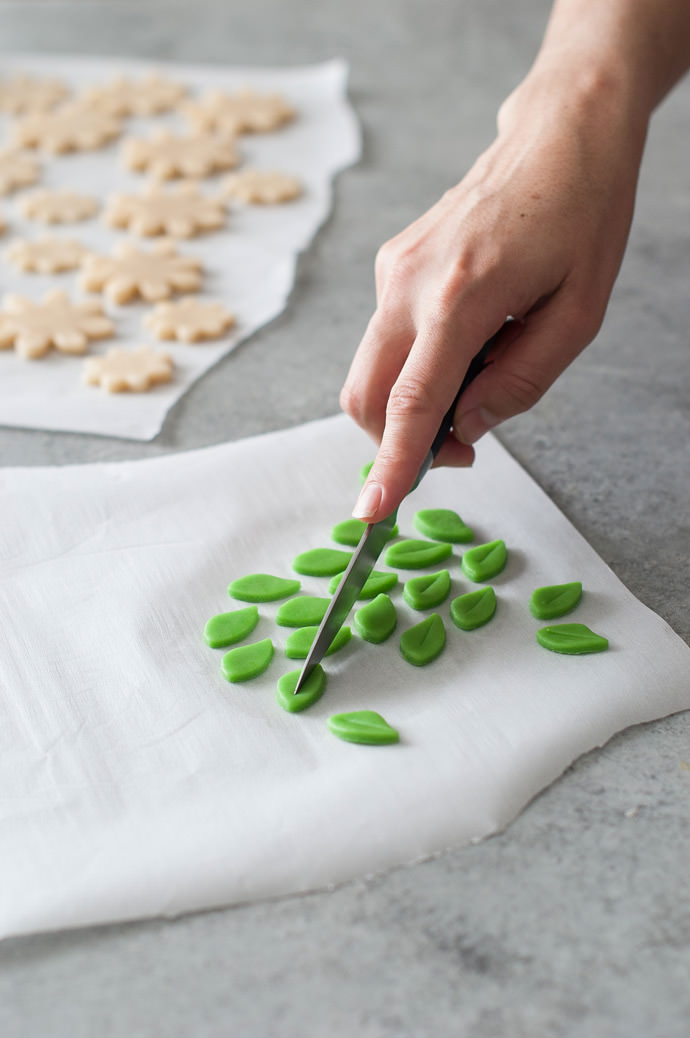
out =
[[[168,241],[158,242],[149,252],[120,242],[112,256],[89,255],[82,266],[81,286],[104,292],[115,303],[137,296],[158,302],[173,292],[196,292],[200,284],[201,261],[181,255]]]

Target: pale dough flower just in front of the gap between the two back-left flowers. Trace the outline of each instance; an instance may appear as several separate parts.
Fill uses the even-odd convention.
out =
[[[32,112],[12,127],[15,141],[54,155],[90,152],[119,137],[119,119],[98,108],[68,102],[52,112]]]

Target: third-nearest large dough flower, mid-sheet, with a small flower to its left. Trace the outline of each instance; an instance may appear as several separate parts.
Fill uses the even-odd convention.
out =
[[[222,227],[225,215],[222,201],[204,197],[196,184],[185,181],[172,190],[150,184],[140,195],[112,195],[104,219],[111,227],[126,227],[145,238],[193,238]]]

